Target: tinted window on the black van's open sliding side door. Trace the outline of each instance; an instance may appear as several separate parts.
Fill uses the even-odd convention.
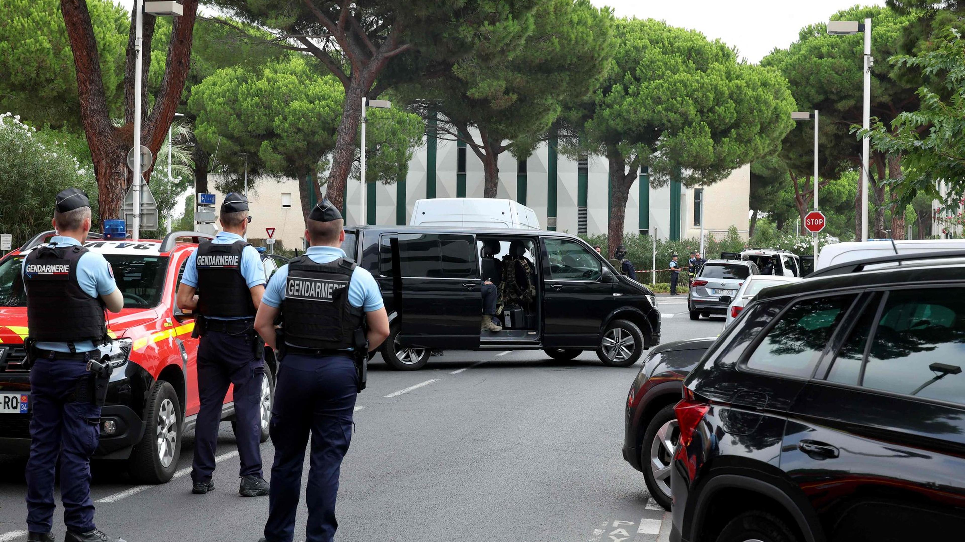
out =
[[[471,235],[400,234],[401,275],[473,278],[478,274],[475,246]]]

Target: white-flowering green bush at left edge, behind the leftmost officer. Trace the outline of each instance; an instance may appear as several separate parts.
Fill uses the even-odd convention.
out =
[[[82,168],[65,145],[0,115],[0,233],[12,233],[14,245],[50,229],[54,196],[65,188],[87,191],[97,222],[97,185],[91,168]]]

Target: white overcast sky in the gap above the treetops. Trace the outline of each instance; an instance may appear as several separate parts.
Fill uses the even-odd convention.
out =
[[[758,63],[774,47],[797,41],[802,27],[828,20],[830,14],[859,4],[854,0],[593,0],[611,6],[617,16],[665,20],[697,30],[707,38],[737,47],[749,62]],[[863,5],[884,5],[866,0]]]

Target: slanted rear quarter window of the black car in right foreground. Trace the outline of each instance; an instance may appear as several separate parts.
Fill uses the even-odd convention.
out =
[[[747,366],[810,378],[824,346],[854,299],[854,295],[838,295],[795,303],[758,343]]]

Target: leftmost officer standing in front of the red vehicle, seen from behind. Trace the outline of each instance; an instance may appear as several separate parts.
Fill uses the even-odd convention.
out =
[[[23,260],[33,364],[27,540],[54,540],[59,459],[65,542],[124,542],[97,530],[91,500],[91,455],[100,438],[100,406],[110,377],[110,366],[97,361],[96,345],[107,339],[104,309],[121,312],[124,296],[107,260],[81,246],[91,230],[87,194],[76,188],[58,194],[53,227],[57,235],[50,243]]]

